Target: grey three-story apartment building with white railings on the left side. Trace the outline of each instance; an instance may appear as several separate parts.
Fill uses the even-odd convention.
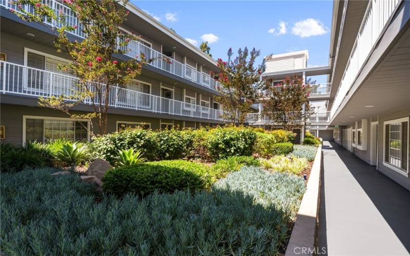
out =
[[[56,12],[63,10],[78,26],[70,32],[71,40],[85,36],[72,10],[60,1],[45,3]],[[90,140],[84,128],[84,124],[90,127],[87,120],[81,124],[81,120],[38,106],[38,97],[70,95],[76,79],[70,71],[58,69],[59,64],[70,62],[65,53],[57,53],[54,47],[52,25],[58,22],[25,22],[9,11],[18,8],[7,0],[0,1],[0,8],[1,141],[24,144],[55,138]],[[32,10],[30,6],[24,8]],[[210,72],[218,71],[216,61],[135,5],[129,3],[127,9],[130,14],[121,29],[141,36],[138,41],[130,41],[127,54],[115,58],[126,60],[142,52],[147,58],[157,59],[125,89],[114,88],[118,97],[110,100],[108,132],[136,125],[156,130],[224,123],[221,105],[214,100],[219,84]],[[73,111],[84,113],[90,109],[90,104],[85,103]]]

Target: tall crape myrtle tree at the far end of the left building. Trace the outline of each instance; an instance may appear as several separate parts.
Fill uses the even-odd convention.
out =
[[[217,65],[220,72],[215,74],[215,80],[221,83],[217,88],[220,93],[215,97],[223,106],[223,118],[235,125],[245,122],[246,114],[251,112],[251,106],[258,100],[258,92],[264,87],[260,74],[265,71],[265,61],[255,67],[255,59],[260,55],[260,50],[253,48],[250,52],[245,47],[239,48],[238,55],[232,58],[232,48],[228,50],[228,60],[218,59]]]

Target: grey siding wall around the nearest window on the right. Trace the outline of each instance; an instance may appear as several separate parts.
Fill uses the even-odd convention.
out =
[[[391,178],[392,180],[396,181],[400,185],[402,185],[404,188],[410,190],[410,178],[409,174],[407,173],[407,176],[396,172],[395,170],[388,168],[387,166],[383,165],[383,148],[384,148],[384,121],[388,120],[393,120],[393,119],[398,119],[402,117],[408,117],[410,116],[410,109],[391,113],[388,115],[384,116],[379,116],[379,146],[378,146],[378,165],[377,169],[379,172],[383,173],[387,177]],[[408,159],[407,159],[408,160]],[[407,163],[408,165],[408,163]]]

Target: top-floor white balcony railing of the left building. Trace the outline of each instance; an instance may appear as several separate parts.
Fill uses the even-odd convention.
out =
[[[82,25],[78,22],[78,19],[76,18],[75,12],[73,10],[55,0],[43,0],[42,2],[43,4],[46,4],[51,9],[53,9],[56,15],[58,15],[59,11],[61,10],[66,17],[66,22],[71,26],[77,26],[77,28],[74,31],[68,31],[69,33],[79,36],[81,38],[86,37],[86,34],[81,30]],[[3,6],[7,9],[13,9],[16,12],[18,12],[17,6],[10,4],[9,0],[0,0],[0,6]],[[23,5],[23,8],[28,13],[34,14],[33,6]],[[59,20],[54,19],[51,20],[51,22],[48,22],[46,19],[44,19],[43,23],[50,25],[52,27],[62,26],[62,23],[59,22]],[[194,82],[196,84],[199,84],[200,86],[209,88],[211,90],[216,91],[220,86],[220,83],[215,81],[209,75],[198,72],[195,69],[192,69],[190,66],[185,65],[175,59],[172,59],[158,51],[155,51],[154,49],[151,49],[136,40],[130,40],[127,48],[128,49],[122,47],[121,50],[127,50],[128,52],[125,55],[127,55],[128,57],[139,57],[141,53],[143,53],[147,59],[155,58],[153,62],[149,63],[149,65],[155,68],[177,75],[179,77],[187,79],[191,82]]]

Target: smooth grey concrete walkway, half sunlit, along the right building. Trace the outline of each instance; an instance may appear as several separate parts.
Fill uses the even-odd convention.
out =
[[[329,141],[321,182],[319,248],[329,255],[410,254],[410,191]]]

